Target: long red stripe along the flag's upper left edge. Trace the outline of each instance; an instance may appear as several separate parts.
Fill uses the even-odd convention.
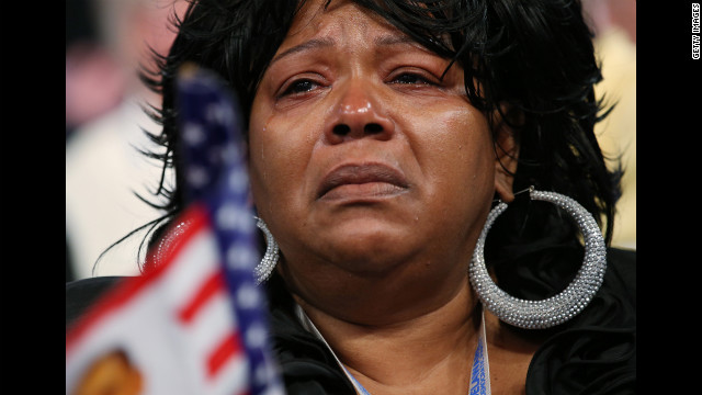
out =
[[[104,316],[121,308],[123,305],[134,298],[139,292],[147,289],[151,283],[160,280],[167,269],[170,268],[170,263],[173,261],[173,257],[178,256],[180,250],[188,246],[193,236],[195,236],[207,224],[208,216],[204,206],[192,205],[190,206],[181,217],[183,221],[190,221],[188,230],[183,233],[183,242],[180,242],[171,253],[161,262],[155,267],[154,270],[147,271],[143,275],[125,279],[121,281],[113,290],[107,291],[107,294],[100,300],[95,306],[89,311],[84,317],[79,320],[73,328],[67,330],[66,334],[66,358],[72,349],[72,346],[81,338],[81,336],[89,330],[95,323],[100,321]]]

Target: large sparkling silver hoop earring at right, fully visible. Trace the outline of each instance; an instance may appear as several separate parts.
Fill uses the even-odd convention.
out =
[[[602,285],[607,269],[604,238],[592,215],[575,200],[555,192],[529,189],[532,200],[554,203],[573,216],[585,239],[585,261],[576,278],[559,294],[542,301],[513,297],[499,289],[490,279],[485,266],[485,238],[495,219],[507,210],[500,202],[488,214],[478,238],[468,274],[471,284],[486,309],[500,320],[525,329],[543,329],[563,324],[579,314]]]

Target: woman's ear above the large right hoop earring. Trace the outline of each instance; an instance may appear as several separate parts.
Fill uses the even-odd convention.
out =
[[[505,116],[512,121],[506,122]],[[496,111],[494,120],[495,192],[503,202],[511,203],[514,200],[512,185],[519,161],[519,136],[511,125],[521,125],[523,116],[521,113],[510,113],[509,109],[502,106],[501,114]]]

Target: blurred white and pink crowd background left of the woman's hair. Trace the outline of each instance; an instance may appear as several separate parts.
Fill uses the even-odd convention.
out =
[[[169,185],[171,177],[140,153],[157,149],[145,132],[158,125],[146,110],[160,105],[160,97],[139,71],[156,67],[154,52],[168,52],[174,37],[169,18],[180,3],[67,2],[66,281],[138,274],[138,235],[146,229],[110,247],[161,215],[139,198],[151,196],[161,177]],[[92,32],[82,34],[86,40],[71,37],[69,45],[68,30],[82,29],[69,21],[80,21],[81,12]]]

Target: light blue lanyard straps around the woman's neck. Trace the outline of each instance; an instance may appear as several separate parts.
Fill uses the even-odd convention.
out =
[[[321,336],[317,327],[312,323],[309,317],[305,314],[299,305],[297,307],[297,316],[301,319],[303,326],[317,336],[331,351],[331,354],[337,360],[337,363],[343,372],[347,374],[355,391],[361,395],[371,395],[371,393],[359,383],[358,380],[347,370],[347,368],[339,361],[327,340]],[[490,391],[490,364],[487,358],[487,342],[485,340],[485,313],[480,313],[480,330],[478,331],[478,345],[475,348],[475,354],[473,356],[473,368],[471,369],[471,385],[468,387],[468,395],[491,395]]]

